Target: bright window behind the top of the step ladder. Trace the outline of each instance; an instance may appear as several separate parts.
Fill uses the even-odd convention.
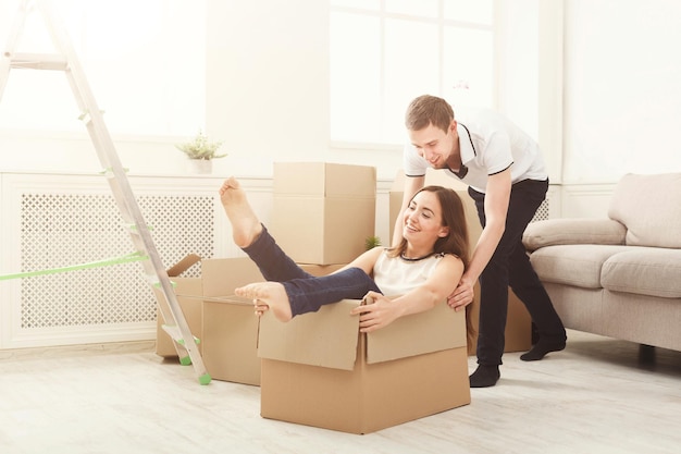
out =
[[[0,7],[4,49],[18,1]],[[194,135],[205,123],[206,1],[60,0],[70,35],[112,134]],[[32,11],[17,52],[55,50]],[[62,72],[12,70],[0,102],[2,130],[85,132]]]

